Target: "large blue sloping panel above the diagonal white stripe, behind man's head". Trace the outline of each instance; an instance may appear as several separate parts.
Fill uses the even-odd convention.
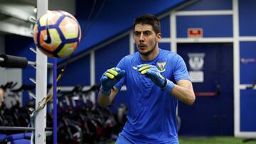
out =
[[[129,30],[132,28],[134,18],[143,13],[151,13],[158,16],[184,1],[186,0],[107,1],[99,17],[87,33],[86,38],[82,40],[81,43],[84,46],[80,45],[75,54]],[[100,8],[101,4],[102,1],[97,1],[97,8]],[[78,9],[76,13],[78,13],[78,21],[81,21],[81,26],[85,26],[85,23],[82,23],[87,21],[88,12],[85,11],[90,11],[91,5],[91,1],[77,1]],[[97,10],[95,9],[95,11]]]

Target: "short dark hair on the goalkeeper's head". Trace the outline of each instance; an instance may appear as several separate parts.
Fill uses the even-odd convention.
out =
[[[137,24],[150,25],[150,26],[152,26],[152,28],[156,34],[161,33],[161,26],[160,26],[159,18],[156,18],[156,16],[154,16],[154,15],[144,14],[142,16],[135,18],[134,19],[134,28]]]

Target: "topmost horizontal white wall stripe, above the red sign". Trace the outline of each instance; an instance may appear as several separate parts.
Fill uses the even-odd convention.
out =
[[[178,11],[176,16],[217,16],[217,15],[232,15],[233,11]]]

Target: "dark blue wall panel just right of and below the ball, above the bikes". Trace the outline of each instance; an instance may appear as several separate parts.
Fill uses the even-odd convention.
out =
[[[75,86],[78,84],[90,85],[90,55],[69,63],[63,77],[58,82],[60,86]]]

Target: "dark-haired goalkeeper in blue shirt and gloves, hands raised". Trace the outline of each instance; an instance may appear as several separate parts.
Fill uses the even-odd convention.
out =
[[[178,100],[191,105],[195,95],[185,62],[176,53],[159,48],[160,39],[158,18],[149,14],[135,18],[138,52],[102,74],[101,106],[108,106],[124,84],[129,92],[127,122],[117,144],[178,143]]]

